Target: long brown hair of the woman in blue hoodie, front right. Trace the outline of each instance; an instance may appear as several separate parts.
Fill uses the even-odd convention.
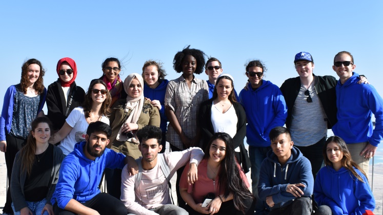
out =
[[[338,137],[338,136],[332,136],[332,137],[329,137],[329,139],[326,140],[326,143],[325,143],[325,146],[323,147],[323,157],[325,158],[325,164],[327,166],[332,166],[333,167],[333,164],[332,162],[329,160],[329,158],[327,157],[327,145],[329,143],[335,143],[336,145],[338,145],[338,148],[340,150],[340,152],[342,152],[343,154],[343,157],[342,157],[342,160],[341,160],[341,164],[342,164],[342,167],[345,167],[346,169],[348,169],[352,175],[354,175],[359,181],[365,183],[365,181],[362,179],[362,177],[359,176],[359,174],[356,173],[355,169],[358,169],[360,171],[360,173],[362,173],[363,175],[366,176],[367,178],[367,175],[365,173],[365,171],[359,167],[358,164],[356,164],[352,158],[351,158],[351,154],[350,154],[350,151],[349,149],[347,148],[347,145],[346,145],[346,142]]]

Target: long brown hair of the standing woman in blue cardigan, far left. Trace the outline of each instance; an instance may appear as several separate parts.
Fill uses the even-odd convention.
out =
[[[34,58],[29,59],[29,60],[27,60],[27,61],[25,61],[23,63],[23,66],[22,66],[22,77],[21,77],[21,80],[20,80],[21,90],[22,90],[22,92],[24,92],[24,94],[27,94],[28,84],[29,84],[28,67],[31,64],[37,64],[40,67],[40,74],[39,74],[38,79],[36,80],[36,82],[33,84],[33,89],[38,94],[42,94],[44,92],[44,80],[43,80],[43,76],[45,75],[45,70],[43,68],[42,63],[39,60],[34,59]]]

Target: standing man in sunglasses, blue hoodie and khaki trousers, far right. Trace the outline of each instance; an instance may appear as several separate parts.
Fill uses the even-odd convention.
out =
[[[338,122],[332,127],[334,135],[347,143],[351,157],[367,174],[369,160],[383,139],[383,100],[370,84],[358,84],[358,74],[350,52],[335,55],[332,69],[339,76],[336,85]],[[375,116],[375,129],[372,124]]]

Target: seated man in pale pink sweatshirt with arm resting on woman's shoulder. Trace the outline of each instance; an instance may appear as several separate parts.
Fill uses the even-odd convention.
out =
[[[189,161],[189,183],[197,180],[197,165],[203,159],[204,152],[198,147],[191,147],[181,152],[158,154],[162,149],[162,132],[159,127],[147,125],[138,130],[139,150],[143,157],[136,160],[142,166],[139,173],[130,176],[128,168],[124,167],[122,174],[121,201],[132,214],[188,214],[186,210],[171,203],[168,180],[180,167]],[[159,158],[162,156],[162,158]],[[159,159],[164,159],[164,165],[170,170],[168,179],[164,175],[165,166]],[[137,179],[137,177],[140,177]]]

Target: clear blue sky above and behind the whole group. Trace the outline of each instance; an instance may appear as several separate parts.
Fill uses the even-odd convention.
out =
[[[76,83],[85,90],[102,75],[107,57],[124,59],[120,75],[142,73],[148,59],[164,63],[174,54],[203,50],[223,63],[239,92],[249,59],[265,62],[266,80],[280,86],[297,76],[294,56],[310,52],[316,75],[333,75],[334,55],[349,51],[355,72],[383,95],[383,1],[3,1],[0,7],[0,97],[19,83],[29,58],[47,69],[46,87],[57,79],[56,63],[77,63]],[[203,73],[198,78],[207,79]],[[0,99],[3,105],[3,99]],[[45,109],[46,110],[46,109]]]

